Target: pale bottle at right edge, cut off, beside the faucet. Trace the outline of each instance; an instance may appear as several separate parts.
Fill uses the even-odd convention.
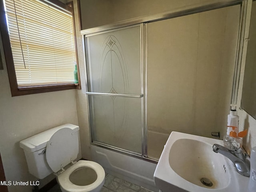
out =
[[[250,172],[248,190],[249,192],[255,192],[256,191],[256,147],[252,148],[251,150],[250,163],[251,163],[251,172]]]

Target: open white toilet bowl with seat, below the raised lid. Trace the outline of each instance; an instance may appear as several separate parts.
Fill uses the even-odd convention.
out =
[[[57,177],[62,192],[99,192],[105,171],[96,162],[79,160]]]

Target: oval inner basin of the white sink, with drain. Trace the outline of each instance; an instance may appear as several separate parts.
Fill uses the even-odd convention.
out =
[[[185,138],[176,140],[170,149],[169,164],[176,174],[198,186],[219,189],[230,183],[226,162],[206,142]],[[212,184],[207,184],[204,180],[202,182],[206,185],[203,184],[202,178],[207,178]]]

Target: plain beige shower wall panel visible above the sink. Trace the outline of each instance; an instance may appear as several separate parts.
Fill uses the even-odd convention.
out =
[[[148,24],[148,156],[172,131],[223,137],[239,16],[237,5]]]

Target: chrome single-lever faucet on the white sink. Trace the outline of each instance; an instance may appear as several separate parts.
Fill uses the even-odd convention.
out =
[[[214,144],[212,149],[216,153],[220,153],[229,158],[236,166],[236,171],[246,177],[250,177],[250,161],[246,159],[248,154],[244,154],[242,148],[237,150],[229,150],[228,148]]]

